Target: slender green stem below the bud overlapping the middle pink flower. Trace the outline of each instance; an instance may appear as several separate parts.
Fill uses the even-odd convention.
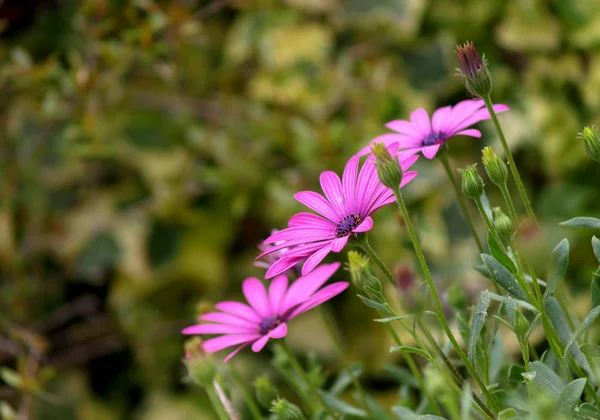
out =
[[[450,329],[450,326],[448,325],[448,322],[446,321],[446,318],[444,316],[444,310],[442,309],[442,304],[440,302],[440,298],[437,294],[437,290],[436,290],[435,284],[433,282],[433,278],[431,277],[431,273],[429,272],[429,267],[427,266],[427,262],[425,261],[425,256],[423,255],[423,250],[421,249],[421,244],[419,243],[419,239],[417,238],[417,235],[413,228],[412,222],[410,221],[410,216],[408,215],[408,210],[406,208],[406,204],[404,204],[404,199],[402,198],[402,193],[400,192],[400,189],[396,188],[394,191],[394,194],[396,195],[396,202],[398,203],[398,207],[400,208],[400,211],[402,212],[402,217],[404,218],[404,223],[406,224],[408,233],[409,233],[410,238],[413,243],[413,247],[414,247],[417,257],[419,259],[419,263],[421,264],[421,269],[423,270],[423,274],[425,275],[425,280],[427,281],[427,284],[429,285],[429,290],[431,291],[431,295],[433,297],[433,302],[435,305],[435,309],[438,313],[439,321],[442,324],[442,327],[443,327],[444,331],[446,332],[448,339],[452,343],[452,346],[454,347],[456,353],[458,354],[460,359],[465,364],[465,367],[469,371],[469,374],[473,377],[473,379],[475,379],[475,382],[477,382],[477,384],[481,388],[481,392],[483,392],[483,394],[486,396],[486,399],[489,401],[489,403],[492,404],[492,407],[494,408],[494,410],[498,411],[498,407],[496,405],[493,395],[486,388],[485,384],[483,383],[479,374],[477,373],[475,367],[471,364],[471,362],[467,358],[467,355],[463,352],[462,348],[456,341],[456,338],[452,334],[452,330]]]

